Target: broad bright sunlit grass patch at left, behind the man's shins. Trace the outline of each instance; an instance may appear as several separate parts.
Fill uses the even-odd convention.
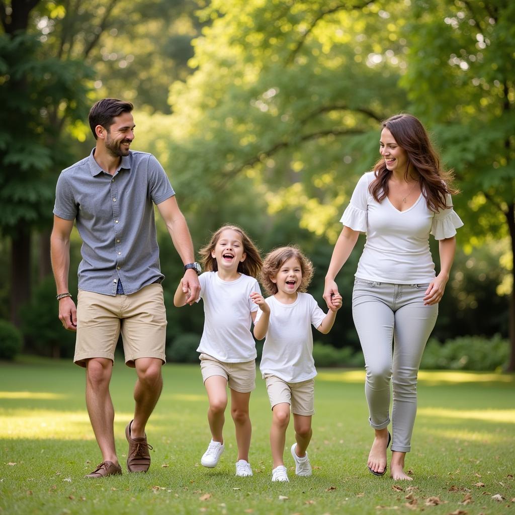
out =
[[[132,417],[130,413],[117,413],[115,424],[125,427]],[[92,440],[94,435],[85,410],[4,409],[0,411],[0,438]]]

